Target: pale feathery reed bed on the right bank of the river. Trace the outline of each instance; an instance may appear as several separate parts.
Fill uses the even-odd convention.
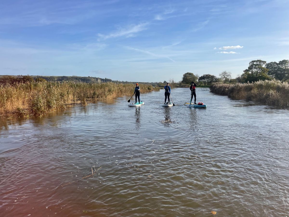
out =
[[[255,100],[273,106],[289,106],[289,84],[278,80],[214,84],[210,91],[236,99]]]

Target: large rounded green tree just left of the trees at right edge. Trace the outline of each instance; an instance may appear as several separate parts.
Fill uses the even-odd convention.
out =
[[[258,80],[271,80],[271,77],[268,76],[269,69],[266,69],[264,66],[266,61],[263,60],[252,60],[249,62],[248,69],[245,69],[242,74],[245,82],[254,82]]]

